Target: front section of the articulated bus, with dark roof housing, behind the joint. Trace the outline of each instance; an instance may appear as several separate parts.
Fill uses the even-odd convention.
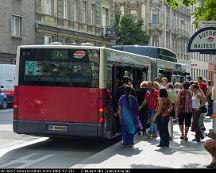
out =
[[[183,65],[177,63],[176,54],[167,48],[141,45],[114,45],[112,48],[151,57],[152,80],[165,76],[170,82],[183,82],[189,75]]]

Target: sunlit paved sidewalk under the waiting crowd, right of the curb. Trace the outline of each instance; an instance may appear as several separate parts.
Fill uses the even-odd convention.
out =
[[[212,120],[205,118],[206,132]],[[189,131],[188,141],[180,139],[179,127],[174,124],[174,140],[169,148],[158,148],[157,139],[135,136],[134,148],[121,148],[118,142],[71,168],[206,168],[211,156],[200,143],[193,142],[194,132]]]

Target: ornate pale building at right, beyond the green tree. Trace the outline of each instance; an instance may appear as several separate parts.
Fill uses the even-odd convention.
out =
[[[175,52],[178,62],[186,65],[186,71],[193,79],[200,75],[208,77],[208,58],[187,52],[188,41],[195,33],[191,18],[192,8],[172,9],[164,0],[116,0],[116,2],[120,6],[122,15],[132,14],[143,20],[143,29],[150,35],[149,45],[166,47]]]

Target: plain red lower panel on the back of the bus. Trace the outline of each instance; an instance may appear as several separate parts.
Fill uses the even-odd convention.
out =
[[[18,120],[98,121],[99,89],[19,86],[16,93]]]

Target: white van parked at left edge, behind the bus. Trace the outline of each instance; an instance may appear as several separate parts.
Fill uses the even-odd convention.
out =
[[[7,102],[13,103],[16,65],[0,64],[0,88],[7,95]]]

